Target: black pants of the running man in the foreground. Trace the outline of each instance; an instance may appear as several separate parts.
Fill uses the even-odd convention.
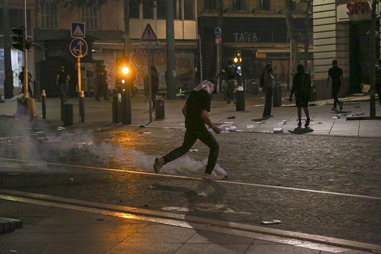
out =
[[[217,163],[217,157],[219,152],[219,145],[215,140],[214,136],[205,128],[202,131],[194,131],[186,129],[184,142],[180,147],[177,147],[175,150],[171,151],[164,158],[164,164],[172,162],[177,158],[181,157],[185,153],[189,151],[190,148],[195,144],[195,142],[199,139],[205,145],[207,145],[210,149],[208,164],[206,165],[205,173],[210,174],[213,172],[215,164]]]

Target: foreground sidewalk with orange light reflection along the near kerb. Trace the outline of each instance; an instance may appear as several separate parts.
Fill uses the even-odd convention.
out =
[[[0,216],[21,219],[24,226],[14,232],[0,234],[0,253],[3,254],[370,253],[106,209],[22,198],[14,200],[19,202],[0,199]]]

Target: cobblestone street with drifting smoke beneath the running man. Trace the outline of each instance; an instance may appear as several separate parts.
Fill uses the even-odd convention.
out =
[[[96,169],[153,173],[155,156],[179,146],[182,130],[30,128],[15,125],[7,139],[9,133],[1,133],[0,188],[227,223],[260,226],[262,220],[279,219],[281,224],[266,227],[381,243],[378,138],[222,133],[215,135],[220,144],[216,168],[228,177],[205,181],[171,177],[202,176],[208,149],[199,141],[193,147],[198,151],[163,167],[164,175]],[[54,137],[61,142],[41,142]],[[79,142],[83,148],[68,149]],[[42,166],[38,161],[56,164]]]

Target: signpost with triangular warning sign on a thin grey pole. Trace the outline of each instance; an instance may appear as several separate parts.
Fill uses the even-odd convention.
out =
[[[148,105],[149,105],[149,121],[152,122],[152,80],[151,80],[151,65],[152,56],[151,49],[158,48],[159,42],[157,40],[156,34],[153,31],[151,25],[147,23],[142,36],[140,37],[140,48],[145,48],[148,50]]]

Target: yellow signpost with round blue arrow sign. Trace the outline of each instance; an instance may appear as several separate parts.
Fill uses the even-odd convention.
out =
[[[84,28],[83,28],[83,34],[84,34]],[[84,94],[82,92],[81,87],[81,58],[87,54],[87,43],[85,40],[81,38],[73,39],[73,41],[70,43],[70,52],[72,55],[77,57],[78,59],[78,92],[79,92],[79,121],[84,122],[85,121],[85,112],[84,112]],[[81,110],[83,109],[83,110]]]

